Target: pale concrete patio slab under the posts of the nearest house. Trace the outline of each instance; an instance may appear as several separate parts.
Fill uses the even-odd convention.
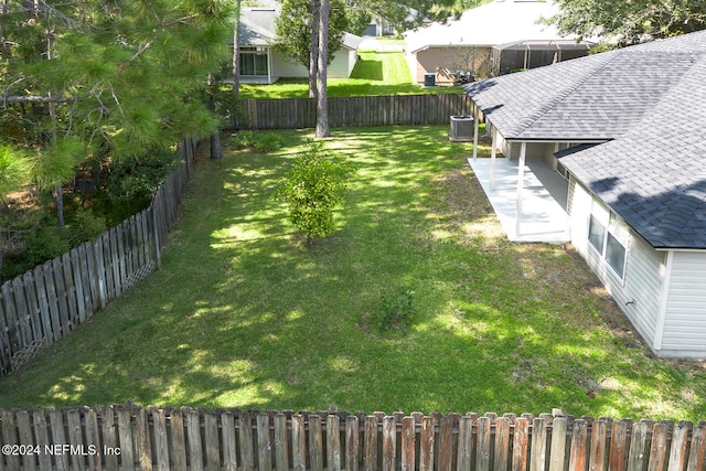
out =
[[[520,234],[515,231],[518,160],[502,157],[495,160],[493,191],[490,190],[491,159],[468,159],[468,162],[511,242],[569,242],[565,211],[567,182],[544,160],[526,160]]]

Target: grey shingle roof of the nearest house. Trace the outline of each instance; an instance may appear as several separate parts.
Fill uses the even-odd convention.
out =
[[[506,139],[605,141],[561,163],[652,246],[706,249],[706,31],[466,89]]]

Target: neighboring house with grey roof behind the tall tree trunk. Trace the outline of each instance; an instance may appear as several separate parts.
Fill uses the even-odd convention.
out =
[[[238,41],[240,79],[244,83],[271,84],[280,77],[308,77],[309,68],[288,60],[275,50],[275,19],[279,7],[243,8]],[[328,68],[329,78],[347,78],[357,61],[361,38],[344,33],[343,47],[336,51]]]

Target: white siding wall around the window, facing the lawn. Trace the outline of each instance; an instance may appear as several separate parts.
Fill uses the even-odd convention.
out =
[[[571,176],[567,207],[571,244],[653,347],[666,269],[665,253],[655,250],[629,229],[624,276],[620,279],[588,240],[592,204],[591,193]]]

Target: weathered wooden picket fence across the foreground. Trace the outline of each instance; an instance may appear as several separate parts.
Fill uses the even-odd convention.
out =
[[[703,471],[706,422],[486,414],[0,411],[0,470]]]

